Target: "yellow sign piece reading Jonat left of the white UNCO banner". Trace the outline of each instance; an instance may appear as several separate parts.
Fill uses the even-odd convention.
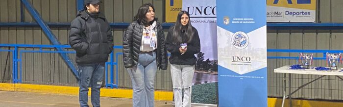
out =
[[[166,22],[171,23],[176,21],[177,14],[182,11],[182,0],[166,0],[165,2],[166,12],[165,19]]]

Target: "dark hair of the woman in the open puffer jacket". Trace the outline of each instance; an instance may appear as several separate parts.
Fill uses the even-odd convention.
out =
[[[154,21],[156,21],[157,18],[155,17],[152,21],[148,22],[146,14],[149,12],[149,7],[152,7],[152,10],[155,12],[155,8],[151,3],[145,3],[139,7],[137,15],[133,18],[133,20],[137,21],[138,23],[143,23],[144,26],[151,25]]]

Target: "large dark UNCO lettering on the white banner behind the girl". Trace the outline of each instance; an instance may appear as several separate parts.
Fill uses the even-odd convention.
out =
[[[187,11],[189,15],[192,16],[216,16],[217,15],[217,6],[194,6],[194,7],[187,7]]]

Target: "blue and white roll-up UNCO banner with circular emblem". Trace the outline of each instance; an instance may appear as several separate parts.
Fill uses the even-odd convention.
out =
[[[267,107],[265,0],[217,0],[219,107]]]

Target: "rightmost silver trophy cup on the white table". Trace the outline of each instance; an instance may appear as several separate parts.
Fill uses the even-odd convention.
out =
[[[339,63],[340,60],[342,62],[341,53],[326,53],[326,61],[330,63],[330,70],[337,70],[336,61]]]

